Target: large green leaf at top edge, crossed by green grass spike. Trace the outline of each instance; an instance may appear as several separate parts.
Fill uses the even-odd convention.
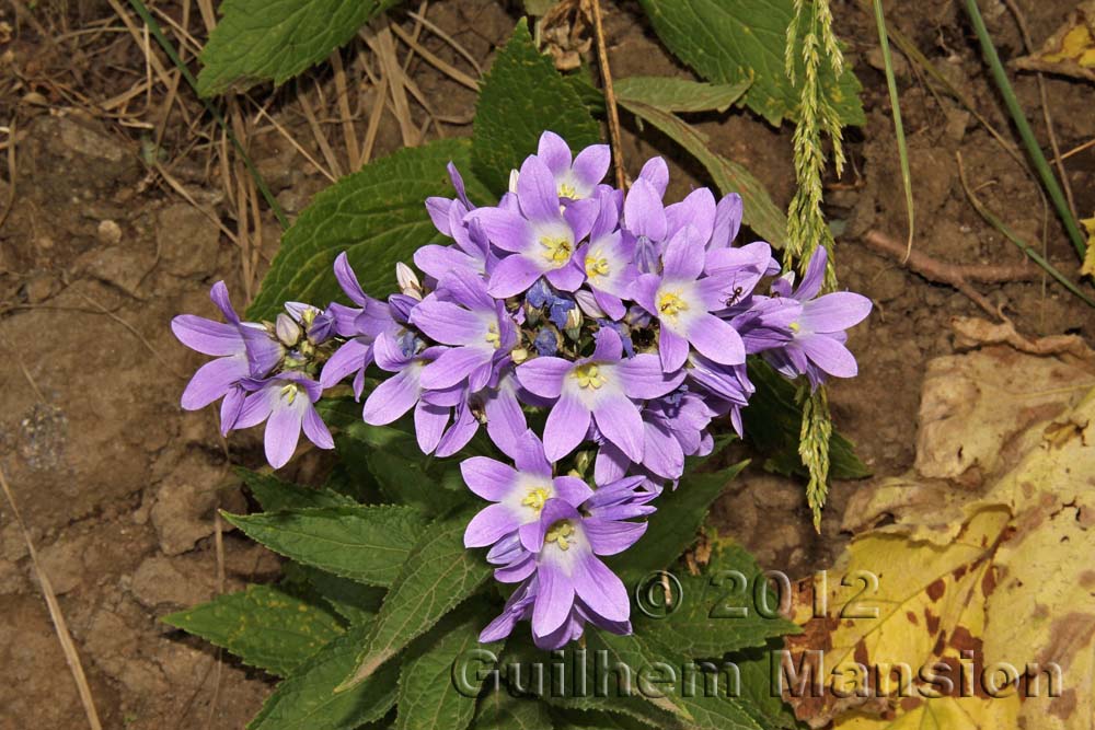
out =
[[[795,0],[639,0],[661,42],[704,79],[752,79],[745,104],[773,125],[797,116],[798,90],[787,78],[784,50]],[[799,38],[803,33],[797,34]],[[799,42],[800,43],[800,42]],[[796,49],[795,78],[803,79]],[[840,80],[821,63],[821,86],[845,125],[865,123],[862,86],[850,68]]]

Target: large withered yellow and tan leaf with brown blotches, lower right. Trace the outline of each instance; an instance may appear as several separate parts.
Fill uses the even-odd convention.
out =
[[[918,466],[936,478],[914,472],[850,506],[845,526],[875,526],[799,587],[785,696],[837,730],[1088,730],[1090,361],[1002,347],[941,358],[921,419]]]

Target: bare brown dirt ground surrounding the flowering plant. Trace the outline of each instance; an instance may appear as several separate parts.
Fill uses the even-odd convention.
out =
[[[422,3],[430,23],[484,67],[511,30],[517,4]],[[841,283],[869,296],[876,309],[851,336],[860,378],[834,384],[831,401],[838,426],[867,464],[892,475],[912,464],[925,362],[955,349],[949,318],[983,312],[863,243],[869,231],[903,240],[903,198],[874,19],[854,2],[833,4],[838,33],[864,84],[867,124],[848,132],[851,164],[842,179],[830,181],[828,211],[839,232]],[[890,4],[890,23],[1012,139],[957,4]],[[189,32],[205,37],[188,0],[154,5],[161,22],[170,18],[173,26],[186,18]],[[658,45],[637,3],[603,5],[618,77],[688,74]],[[996,0],[981,5],[1002,56],[1022,55],[1007,7]],[[1018,5],[1039,44],[1071,3]],[[416,32],[414,19],[393,18]],[[417,31],[427,49],[476,74],[434,32]],[[429,106],[427,112],[412,100],[414,121],[439,120],[426,138],[469,135],[474,92],[418,55],[407,58],[406,46],[397,53]],[[373,69],[374,60],[364,43],[343,60],[353,125],[362,140],[376,96],[361,63]],[[952,265],[1023,260],[970,207],[958,178],[960,152],[984,202],[1024,239],[1045,245],[1058,267],[1074,270],[1068,240],[1030,176],[958,102],[930,90],[917,67],[899,59],[897,72],[915,186],[917,251]],[[1036,79],[1021,74],[1014,81],[1048,149]],[[1061,149],[1095,137],[1090,85],[1051,78],[1046,85]],[[297,93],[309,100],[307,107]],[[321,70],[299,85],[253,91],[250,100],[232,103],[251,154],[290,215],[328,184],[321,169],[347,169],[337,94],[336,79]],[[299,150],[258,117],[260,106]],[[670,198],[706,183],[680,150],[624,117],[632,175],[660,153],[675,173]],[[200,358],[175,341],[169,322],[181,312],[211,314],[207,292],[221,278],[242,306],[276,251],[276,221],[265,207],[256,218],[247,204],[254,194],[235,182],[244,179],[237,163],[222,163],[226,146],[196,97],[185,84],[169,92],[107,1],[0,3],[0,125],[9,130],[0,154],[0,465],[59,596],[104,727],[241,728],[269,693],[270,679],[158,617],[277,575],[273,556],[231,532],[222,534],[218,551],[216,509],[247,509],[229,467],[260,464],[261,449],[252,433],[223,442],[208,410],[180,409],[185,379]],[[786,205],[794,184],[788,127],[776,130],[742,112],[711,115],[699,126],[717,152],[746,164]],[[316,141],[315,129],[333,150]],[[395,117],[384,113],[373,155],[402,140]],[[1067,164],[1076,206],[1091,215],[1095,150]],[[1090,310],[1039,276],[1022,278],[975,287],[1027,335],[1095,334]],[[307,457],[290,475],[308,479],[320,468]],[[842,506],[861,487],[835,486],[817,535],[802,485],[751,470],[727,489],[715,518],[766,567],[803,575],[843,545]],[[0,503],[0,729],[85,727],[7,502]]]

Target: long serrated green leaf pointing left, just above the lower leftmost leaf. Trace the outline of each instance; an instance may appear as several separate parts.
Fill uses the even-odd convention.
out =
[[[395,505],[224,514],[224,519],[275,553],[369,586],[390,586],[411,545],[426,530],[416,510]]]

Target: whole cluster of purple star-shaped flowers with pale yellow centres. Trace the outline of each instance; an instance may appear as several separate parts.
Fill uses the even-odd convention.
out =
[[[777,276],[769,244],[734,243],[739,196],[716,201],[701,188],[666,205],[664,160],[647,162],[626,193],[601,183],[609,163],[607,146],[572,155],[544,132],[510,190],[481,208],[450,165],[457,197],[426,208],[452,243],[415,253],[420,279],[399,265],[400,293],[387,301],[361,290],[343,254],[335,275],[354,306],[289,304],[275,323],[245,323],[218,283],[227,324],[173,323],[184,344],[218,356],[183,406],[223,396],[226,433],[268,419],[275,466],[301,428],[331,447],[313,404],[346,379],[360,398],[370,368],[383,380],[364,419],[379,426],[413,410],[423,452],[451,455],[485,426],[508,462],[461,464],[468,487],[491,502],[464,542],[489,548],[496,578],[517,588],[484,641],[523,619],[544,648],[586,623],[631,630],[626,591],[601,557],[642,536],[685,456],[712,451],[712,420],[726,417],[741,433],[753,392],[747,357],[815,387],[856,373],[845,329],[871,302],[818,296],[823,250],[795,288],[793,275]],[[546,414],[542,439],[527,420],[537,412]]]

